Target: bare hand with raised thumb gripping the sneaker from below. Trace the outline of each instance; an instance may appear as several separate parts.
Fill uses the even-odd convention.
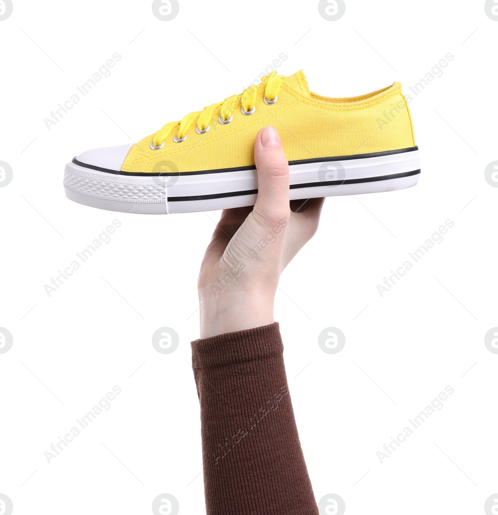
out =
[[[289,165],[279,133],[256,136],[253,207],[224,210],[200,266],[200,337],[273,323],[280,274],[315,234],[323,198],[289,205]]]

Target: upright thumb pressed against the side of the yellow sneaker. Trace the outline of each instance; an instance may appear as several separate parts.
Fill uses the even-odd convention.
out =
[[[289,163],[274,127],[265,127],[257,133],[254,161],[258,184],[254,210],[265,218],[288,217]]]

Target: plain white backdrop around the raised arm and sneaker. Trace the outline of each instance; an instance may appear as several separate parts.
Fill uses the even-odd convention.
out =
[[[150,1],[14,0],[0,22],[0,160],[13,168],[0,188],[0,326],[14,338],[0,355],[0,493],[15,515],[150,513],[161,493],[204,512],[190,341],[219,213],[91,209],[65,198],[63,171],[83,150],[241,93],[282,52],[280,74],[304,68],[328,96],[394,80],[410,93],[455,56],[410,104],[419,185],[327,199],[280,282],[275,320],[317,500],[336,493],[349,515],[478,514],[498,491],[498,355],[484,345],[498,325],[498,189],[484,179],[498,159],[498,23],[482,0],[346,0],[335,22],[317,4],[180,0],[161,22]],[[44,118],[115,52],[112,74],[48,131]],[[44,285],[116,218],[112,241],[48,297]],[[444,241],[381,298],[376,285],[447,219]],[[172,354],[151,344],[163,326],[180,336]],[[346,335],[333,355],[317,342],[330,326]],[[112,407],[49,465],[44,451],[114,385]],[[382,445],[447,385],[444,408],[381,464]]]

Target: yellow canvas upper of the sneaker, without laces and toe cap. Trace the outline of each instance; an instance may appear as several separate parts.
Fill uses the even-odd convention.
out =
[[[174,141],[179,125],[163,140],[160,149],[151,148],[159,131],[146,136],[127,151],[121,170],[157,172],[156,165],[165,161],[180,173],[251,166],[256,134],[267,125],[279,131],[289,161],[415,146],[411,115],[399,82],[357,97],[328,98],[310,92],[303,72],[299,71],[288,77],[279,76],[283,80],[279,83],[278,98],[268,105],[264,97],[269,77],[264,77],[255,90],[253,114],[242,113],[242,95],[238,95],[230,123],[219,122],[222,106],[218,106],[205,133],[197,132],[194,119],[186,130],[186,139],[179,143]]]

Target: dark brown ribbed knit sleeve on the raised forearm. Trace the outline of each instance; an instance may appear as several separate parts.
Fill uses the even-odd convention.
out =
[[[318,515],[279,324],[192,342],[208,515]]]

